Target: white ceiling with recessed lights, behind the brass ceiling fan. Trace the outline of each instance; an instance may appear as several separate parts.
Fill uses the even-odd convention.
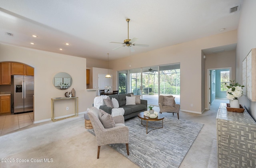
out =
[[[242,3],[243,0],[1,0],[0,43],[102,60],[107,60],[109,53],[109,60],[114,60],[236,30]],[[235,6],[240,10],[230,13]],[[136,37],[136,43],[149,47],[132,46],[134,52],[127,46],[112,50],[121,44],[109,42],[128,38],[127,18],[129,38]],[[211,49],[206,52],[211,53]]]

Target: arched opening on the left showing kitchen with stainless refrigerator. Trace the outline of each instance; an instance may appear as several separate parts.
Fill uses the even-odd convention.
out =
[[[17,82],[17,77],[22,80]],[[4,100],[0,112],[1,134],[33,124],[34,68],[20,62],[0,62],[0,96]]]

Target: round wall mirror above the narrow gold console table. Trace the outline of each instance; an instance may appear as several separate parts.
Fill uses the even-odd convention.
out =
[[[57,89],[68,89],[72,85],[72,78],[66,72],[59,72],[52,79],[52,84]]]

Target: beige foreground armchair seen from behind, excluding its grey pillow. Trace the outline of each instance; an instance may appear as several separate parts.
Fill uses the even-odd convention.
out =
[[[88,116],[92,123],[98,144],[97,159],[100,156],[100,146],[107,144],[126,144],[127,155],[129,155],[129,128],[124,125],[124,116],[114,116],[113,120],[116,126],[106,129],[100,122],[98,113],[99,109],[96,107],[92,107],[88,110]]]

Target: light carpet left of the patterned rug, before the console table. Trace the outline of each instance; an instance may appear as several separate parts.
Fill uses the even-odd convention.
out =
[[[33,124],[0,136],[0,142],[0,158],[14,159],[0,162],[0,168],[137,167],[107,145],[101,148],[102,159],[97,159],[96,139],[84,128],[83,114]]]

